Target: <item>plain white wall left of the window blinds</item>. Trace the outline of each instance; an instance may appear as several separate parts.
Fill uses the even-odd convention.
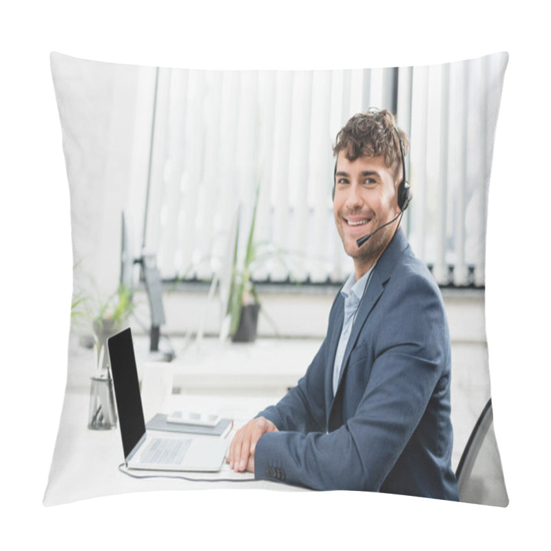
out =
[[[81,71],[81,60],[62,54],[51,63],[70,183],[74,288],[105,298],[118,284],[121,212],[143,211],[154,70],[90,61]],[[137,239],[141,224],[134,229]]]

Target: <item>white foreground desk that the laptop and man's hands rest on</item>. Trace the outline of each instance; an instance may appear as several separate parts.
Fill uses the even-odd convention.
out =
[[[255,481],[250,473],[233,472],[227,464],[224,464],[218,473],[188,472],[181,475],[197,479],[236,479],[240,482],[185,481],[171,479],[170,475],[154,479],[129,477],[118,470],[118,465],[124,461],[118,426],[108,431],[88,429],[88,400],[89,395],[84,393],[69,392],[65,395],[45,505],[58,505],[123,492],[153,490],[269,488],[303,491],[300,488],[275,482]],[[267,405],[265,399],[250,396],[227,396],[222,401],[220,397],[214,396],[173,395],[168,403],[169,408],[207,410],[232,417],[235,428],[247,422],[258,410]],[[231,437],[233,437],[233,431],[227,437],[228,444]]]

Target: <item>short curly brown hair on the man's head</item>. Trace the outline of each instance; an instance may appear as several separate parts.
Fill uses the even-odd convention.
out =
[[[350,161],[358,157],[383,157],[386,167],[402,162],[402,153],[396,132],[408,152],[409,141],[402,129],[396,125],[395,116],[386,109],[370,107],[365,113],[351,117],[337,134],[333,155],[344,151]]]

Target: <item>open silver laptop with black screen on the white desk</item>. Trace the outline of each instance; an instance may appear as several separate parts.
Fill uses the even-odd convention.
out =
[[[229,442],[214,436],[155,437],[145,430],[130,328],[107,339],[125,463],[129,469],[218,472]]]

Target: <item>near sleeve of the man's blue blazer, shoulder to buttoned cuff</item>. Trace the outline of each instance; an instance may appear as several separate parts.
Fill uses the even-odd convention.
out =
[[[331,433],[298,432],[289,422],[291,430],[263,435],[256,445],[256,478],[318,490],[380,489],[422,419],[450,354],[444,306],[432,282],[414,274],[397,286],[386,296],[383,315],[371,320],[376,323],[369,340],[365,326],[360,333],[357,346],[371,346],[373,353],[360,354],[365,365],[355,366],[371,373],[353,415]],[[344,399],[342,393],[337,399]]]

